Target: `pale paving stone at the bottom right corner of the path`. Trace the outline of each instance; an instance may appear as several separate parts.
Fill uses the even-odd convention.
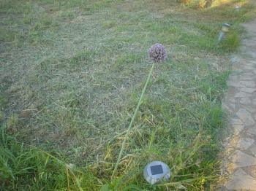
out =
[[[256,179],[239,168],[226,184],[227,190],[255,190]]]

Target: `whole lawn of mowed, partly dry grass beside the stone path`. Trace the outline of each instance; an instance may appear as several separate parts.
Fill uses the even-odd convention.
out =
[[[214,190],[227,53],[239,45],[239,12],[225,1],[0,1],[2,190]],[[232,24],[217,44],[222,23]],[[110,182],[121,142],[157,64]],[[162,160],[170,182],[151,186],[143,167]]]

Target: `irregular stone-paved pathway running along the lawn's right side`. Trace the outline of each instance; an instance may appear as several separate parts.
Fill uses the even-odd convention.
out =
[[[222,104],[233,133],[225,153],[228,178],[220,190],[256,191],[256,20],[244,27],[248,38],[242,41],[241,55],[231,59],[233,74]]]

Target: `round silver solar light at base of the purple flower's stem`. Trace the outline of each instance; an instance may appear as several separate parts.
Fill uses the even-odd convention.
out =
[[[161,161],[153,161],[146,165],[143,176],[149,184],[165,182],[170,179],[170,168]]]

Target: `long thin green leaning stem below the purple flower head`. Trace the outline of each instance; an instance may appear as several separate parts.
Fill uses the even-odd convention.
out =
[[[111,180],[113,179],[113,177],[114,177],[115,174],[116,174],[116,170],[117,170],[117,168],[118,168],[118,164],[120,163],[121,156],[123,155],[123,152],[124,152],[124,145],[125,145],[125,143],[126,143],[126,141],[127,141],[127,138],[128,138],[128,135],[129,135],[129,131],[130,131],[131,128],[132,128],[132,123],[134,122],[135,117],[137,116],[138,110],[139,110],[139,108],[140,108],[140,104],[141,104],[141,102],[142,102],[144,93],[145,93],[145,91],[146,91],[146,87],[148,86],[148,82],[149,82],[149,79],[150,79],[150,77],[151,77],[151,75],[152,75],[153,69],[154,69],[154,63],[152,64],[151,69],[150,69],[150,71],[149,71],[148,79],[147,79],[147,81],[146,81],[146,84],[145,84],[144,87],[143,87],[143,91],[142,91],[142,93],[141,93],[141,95],[140,95],[140,99],[139,99],[138,104],[137,104],[137,106],[136,106],[135,112],[134,112],[134,114],[133,114],[133,116],[132,116],[132,120],[131,120],[131,122],[129,122],[129,127],[128,127],[128,129],[127,129],[127,133],[125,134],[124,141],[123,141],[122,144],[121,144],[121,149],[120,149],[120,152],[119,152],[119,155],[118,155],[118,159],[117,159],[117,161],[116,161],[115,168],[114,168],[113,173],[112,173],[112,176],[111,176]]]

